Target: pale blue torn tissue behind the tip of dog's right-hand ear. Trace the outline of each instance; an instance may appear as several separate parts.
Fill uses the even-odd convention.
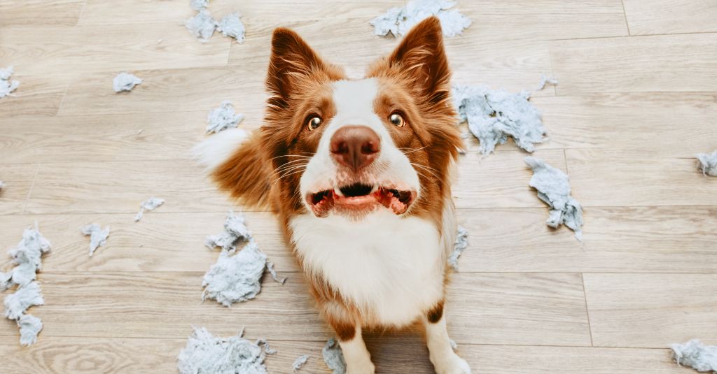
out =
[[[394,37],[401,37],[420,21],[429,16],[437,16],[441,21],[443,35],[455,37],[470,26],[470,19],[467,16],[457,9],[451,9],[455,5],[456,2],[450,0],[413,0],[403,8],[396,6],[389,9],[386,13],[371,19],[369,23],[374,27],[376,35],[383,37],[390,32]]]

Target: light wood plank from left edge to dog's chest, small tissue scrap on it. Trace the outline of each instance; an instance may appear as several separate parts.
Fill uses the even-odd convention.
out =
[[[163,208],[163,207],[162,207]],[[15,246],[22,231],[37,221],[52,242],[43,257],[49,272],[206,272],[217,261],[219,250],[204,246],[206,236],[224,231],[224,213],[147,213],[135,223],[134,214],[62,214],[0,216],[0,248]],[[267,212],[247,212],[247,227],[277,272],[299,272],[296,259],[285,245],[280,225]],[[90,258],[89,239],[80,233],[86,224],[110,226],[105,246]],[[240,246],[241,247],[241,246]],[[9,256],[0,257],[0,269],[9,268]],[[5,266],[3,266],[5,265]]]

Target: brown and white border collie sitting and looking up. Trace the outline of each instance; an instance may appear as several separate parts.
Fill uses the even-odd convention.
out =
[[[362,328],[417,320],[436,372],[470,373],[444,317],[450,170],[462,147],[449,81],[435,17],[361,80],[276,29],[262,128],[196,148],[222,190],[278,214],[349,374],[374,373]]]

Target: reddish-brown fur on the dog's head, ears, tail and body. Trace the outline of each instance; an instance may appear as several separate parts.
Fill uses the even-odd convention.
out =
[[[414,27],[389,57],[369,67],[366,76],[379,81],[380,94],[374,102],[379,116],[388,118],[392,111],[401,110],[407,119],[404,128],[385,120],[394,143],[419,173],[421,197],[407,215],[430,219],[441,231],[444,204],[450,201],[449,168],[462,141],[450,102],[450,69],[438,19],[431,17]],[[324,62],[298,34],[276,29],[266,80],[270,97],[265,123],[214,173],[219,186],[235,198],[277,211],[290,245],[289,221],[305,212],[300,176],[324,128],[310,131],[305,121],[314,114],[326,123],[331,120],[336,112],[331,82],[343,79],[343,71]],[[308,280],[322,315],[340,339],[350,340],[356,324],[371,324],[370,315],[357,310],[323,279]],[[436,315],[440,319],[442,302],[424,313],[429,319]]]

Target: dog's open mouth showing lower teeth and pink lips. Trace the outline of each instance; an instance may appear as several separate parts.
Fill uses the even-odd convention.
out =
[[[394,214],[404,214],[415,198],[415,191],[353,183],[333,190],[309,193],[306,201],[316,216],[323,217],[335,208],[340,211],[361,213],[378,206],[385,206]]]

